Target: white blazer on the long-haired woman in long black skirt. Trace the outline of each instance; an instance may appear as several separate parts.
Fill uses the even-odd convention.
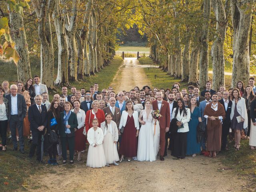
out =
[[[172,119],[175,118],[175,112],[176,112],[177,108],[175,108],[173,110],[173,112],[172,112]],[[179,108],[178,108],[178,110],[179,110]],[[190,121],[190,109],[186,108],[186,111],[187,111],[187,115],[186,116],[183,116],[183,111],[181,112],[181,114],[178,111],[178,114],[176,116],[176,119],[178,121],[181,121],[183,123],[183,126],[184,126],[184,128],[178,129],[178,131],[177,131],[178,133],[184,133],[184,132],[188,132],[189,131],[188,122]]]

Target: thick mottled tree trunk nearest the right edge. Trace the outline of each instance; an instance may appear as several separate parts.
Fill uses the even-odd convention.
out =
[[[239,80],[247,83],[250,76],[250,55],[248,36],[252,19],[254,0],[231,0],[231,18],[234,29],[232,87]]]

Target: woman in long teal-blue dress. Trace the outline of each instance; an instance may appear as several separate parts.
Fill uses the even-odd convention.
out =
[[[188,108],[190,108],[190,121],[188,122],[189,132],[187,136],[186,155],[192,155],[192,157],[195,157],[196,154],[201,151],[201,144],[196,140],[196,131],[198,123],[202,122],[199,107],[196,106],[196,97],[190,97]]]

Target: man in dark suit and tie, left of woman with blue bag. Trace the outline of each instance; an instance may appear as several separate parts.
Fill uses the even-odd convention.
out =
[[[32,158],[36,150],[36,160],[41,161],[41,138],[44,135],[44,128],[47,125],[47,108],[42,103],[42,96],[35,96],[36,104],[28,108],[28,120],[32,132],[32,144],[28,157]]]

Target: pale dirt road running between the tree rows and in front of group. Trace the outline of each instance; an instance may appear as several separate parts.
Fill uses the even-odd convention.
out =
[[[116,92],[134,86],[151,86],[136,58],[126,58],[112,86]],[[86,167],[87,151],[82,161],[73,165],[45,165],[44,171],[28,178],[31,192],[240,192],[246,180],[220,163],[223,156],[191,156],[178,160],[127,162],[104,168]]]

